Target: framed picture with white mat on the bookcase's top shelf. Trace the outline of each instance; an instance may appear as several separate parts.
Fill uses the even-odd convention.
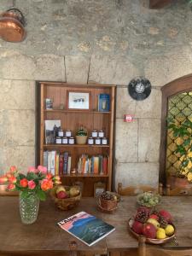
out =
[[[90,91],[67,91],[68,109],[90,110]]]

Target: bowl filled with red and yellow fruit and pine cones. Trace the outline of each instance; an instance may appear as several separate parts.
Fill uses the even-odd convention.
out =
[[[146,237],[146,242],[161,244],[175,238],[176,228],[172,224],[172,215],[166,210],[150,211],[148,207],[139,207],[134,218],[130,218],[128,229],[137,238]]]

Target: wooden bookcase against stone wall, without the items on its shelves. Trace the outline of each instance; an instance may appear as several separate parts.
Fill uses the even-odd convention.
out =
[[[68,109],[68,92],[89,92],[89,109]],[[108,112],[98,111],[98,96],[108,94],[110,107]],[[45,99],[53,99],[53,109],[45,108]],[[113,119],[114,119],[115,85],[102,84],[66,84],[61,82],[38,82],[37,84],[37,164],[44,165],[44,151],[57,151],[61,154],[67,151],[72,157],[72,169],[78,165],[82,154],[108,155],[108,174],[93,173],[68,173],[61,175],[63,184],[72,185],[80,181],[84,183],[84,196],[94,195],[94,183],[106,183],[107,189],[111,190],[113,170]],[[63,109],[61,109],[61,106]],[[80,125],[88,131],[104,131],[108,138],[107,145],[79,145],[75,144],[46,144],[45,127],[46,119],[61,120],[63,131],[71,130],[73,137]]]

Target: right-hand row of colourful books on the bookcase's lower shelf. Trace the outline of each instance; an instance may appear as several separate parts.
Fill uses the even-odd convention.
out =
[[[78,161],[78,173],[92,174],[108,174],[108,155],[93,155],[82,154]]]

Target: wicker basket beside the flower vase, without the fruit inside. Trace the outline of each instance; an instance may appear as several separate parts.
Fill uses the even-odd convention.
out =
[[[73,186],[74,187],[74,186]],[[69,191],[70,187],[68,186],[64,186],[64,188]],[[55,205],[64,211],[70,210],[73,207],[76,207],[79,204],[79,201],[81,199],[81,192],[79,193],[79,195],[74,196],[74,197],[68,197],[65,199],[60,199],[56,197],[55,191],[56,191],[57,187],[55,187],[54,189],[52,189],[50,191],[50,196],[52,197],[52,199],[55,201]],[[80,191],[80,188],[79,188]]]

